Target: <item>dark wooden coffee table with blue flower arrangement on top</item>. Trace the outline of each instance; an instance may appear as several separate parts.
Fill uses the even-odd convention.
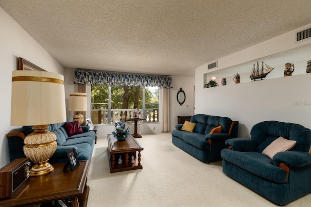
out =
[[[118,141],[113,134],[107,134],[107,138],[110,173],[142,169],[140,151],[144,148],[142,148],[132,135],[129,134],[124,141]],[[121,163],[119,163],[120,156]],[[134,158],[133,163],[132,156]]]

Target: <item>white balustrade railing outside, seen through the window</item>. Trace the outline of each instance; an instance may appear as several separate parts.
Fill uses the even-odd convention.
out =
[[[158,109],[138,109],[141,118],[146,118],[139,123],[158,122]],[[92,109],[91,120],[93,124],[114,124],[119,122],[121,118],[133,118],[134,109],[111,109],[110,116],[108,109]],[[110,120],[109,120],[110,119]],[[130,122],[130,121],[129,121]]]

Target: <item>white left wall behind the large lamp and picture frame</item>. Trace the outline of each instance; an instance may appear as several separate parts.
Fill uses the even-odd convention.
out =
[[[39,67],[63,74],[63,67],[17,22],[0,7],[0,77],[2,98],[0,101],[0,167],[9,163],[6,134],[17,128],[10,125],[12,71],[18,68],[18,57],[22,57]],[[20,103],[22,104],[22,103]]]

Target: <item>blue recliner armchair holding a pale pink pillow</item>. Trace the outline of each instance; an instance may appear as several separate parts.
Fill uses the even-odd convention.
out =
[[[250,135],[251,139],[226,141],[230,149],[221,152],[226,175],[279,205],[311,192],[310,129],[298,124],[265,121],[252,127]],[[272,159],[262,154],[280,136],[285,139],[282,142],[296,141],[294,147],[273,153]],[[279,146],[278,143],[272,149]]]

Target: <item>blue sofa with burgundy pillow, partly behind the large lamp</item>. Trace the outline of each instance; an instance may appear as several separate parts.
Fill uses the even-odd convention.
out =
[[[67,122],[69,122],[68,119]],[[76,150],[77,158],[79,160],[91,159],[95,145],[96,133],[94,131],[89,131],[88,126],[81,126],[84,133],[75,134],[69,137],[66,128],[64,127],[65,123],[66,122],[51,124],[47,129],[53,132],[57,137],[56,151],[52,158],[49,159],[49,162],[67,162],[68,159],[66,152],[72,148]],[[10,161],[13,161],[17,158],[25,158],[23,151],[24,138],[33,131],[34,129],[32,129],[31,126],[27,126],[21,127],[14,132],[9,132],[7,134]]]

